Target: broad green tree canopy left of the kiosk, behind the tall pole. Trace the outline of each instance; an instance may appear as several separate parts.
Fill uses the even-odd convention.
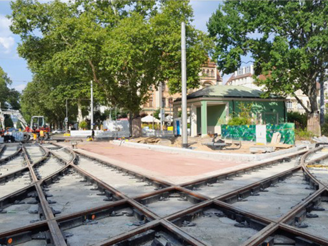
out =
[[[168,81],[180,90],[180,24],[187,23],[188,87],[199,85],[211,39],[191,26],[188,1],[74,1],[11,3],[18,53],[49,91],[88,96],[94,80],[97,100],[137,113],[151,86]],[[38,82],[40,83],[40,82]]]

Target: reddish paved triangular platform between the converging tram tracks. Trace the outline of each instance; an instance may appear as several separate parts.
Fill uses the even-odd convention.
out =
[[[188,179],[196,179],[197,176],[209,176],[213,172],[226,171],[227,168],[237,168],[237,166],[245,162],[222,161],[198,159],[186,157],[180,154],[170,154],[165,152],[156,152],[152,150],[136,149],[112,145],[109,142],[88,142],[81,143],[77,146],[78,149],[99,154],[103,157],[108,157],[109,161],[116,160],[125,164],[134,165],[141,168],[143,171],[150,171],[146,175],[157,174],[159,177],[174,177],[186,181]]]

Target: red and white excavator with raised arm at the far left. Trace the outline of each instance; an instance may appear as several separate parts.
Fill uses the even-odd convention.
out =
[[[24,141],[28,141],[33,134],[39,137],[40,131],[44,131],[45,140],[49,138],[50,128],[45,122],[44,116],[32,116],[31,124],[28,125],[23,115],[18,110],[0,109],[0,136],[6,132],[5,115],[13,115],[17,118],[20,124],[24,127]]]

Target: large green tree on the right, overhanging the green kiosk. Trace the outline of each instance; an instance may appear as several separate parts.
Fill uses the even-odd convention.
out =
[[[258,85],[267,94],[309,97],[314,120],[308,129],[320,134],[317,82],[328,68],[328,2],[325,1],[227,1],[211,16],[208,30],[215,37],[213,54],[224,73],[241,65],[241,56],[254,59]]]

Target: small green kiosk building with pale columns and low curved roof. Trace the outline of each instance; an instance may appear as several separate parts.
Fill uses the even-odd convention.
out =
[[[238,115],[240,103],[252,104],[255,124],[280,124],[287,120],[285,98],[262,98],[260,90],[244,86],[209,86],[187,96],[191,136],[221,133],[232,115]],[[173,103],[173,118],[178,117],[181,98]]]

